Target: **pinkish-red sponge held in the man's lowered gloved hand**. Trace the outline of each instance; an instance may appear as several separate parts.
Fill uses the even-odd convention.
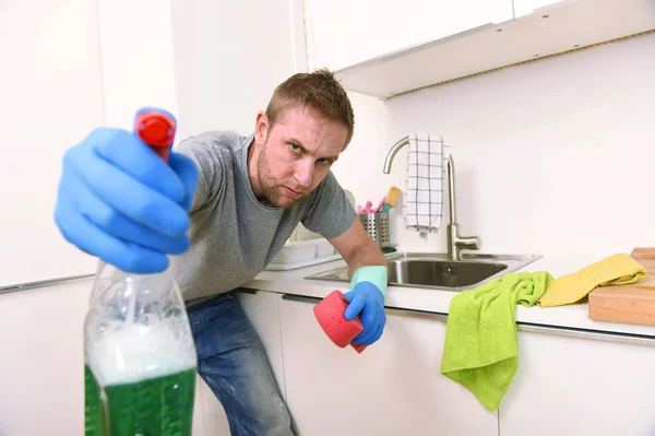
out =
[[[342,349],[350,344],[350,341],[364,330],[359,317],[352,320],[345,318],[348,304],[348,298],[341,291],[333,291],[313,308],[314,317],[327,338]],[[366,349],[366,345],[362,344],[350,344],[350,346],[357,353],[361,353]]]

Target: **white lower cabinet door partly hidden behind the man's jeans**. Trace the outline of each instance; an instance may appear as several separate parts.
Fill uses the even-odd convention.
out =
[[[282,346],[279,338],[279,314],[277,302],[278,294],[270,292],[239,292],[239,301],[248,315],[248,319],[257,330],[271,367],[277,381],[277,386],[284,398],[284,369],[282,362]],[[212,392],[210,387],[201,380],[201,403],[204,416],[205,436],[229,436],[229,424],[225,415],[225,409]]]

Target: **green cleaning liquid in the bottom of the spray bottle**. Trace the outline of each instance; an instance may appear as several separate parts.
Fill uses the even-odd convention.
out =
[[[87,366],[84,372],[85,436],[191,436],[195,368],[106,386],[104,392]]]

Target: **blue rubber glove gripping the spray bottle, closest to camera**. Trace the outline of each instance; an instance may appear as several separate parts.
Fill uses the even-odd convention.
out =
[[[196,185],[190,158],[171,151],[166,163],[134,132],[99,128],[63,157],[55,222],[88,255],[128,272],[160,272],[166,255],[190,246]]]

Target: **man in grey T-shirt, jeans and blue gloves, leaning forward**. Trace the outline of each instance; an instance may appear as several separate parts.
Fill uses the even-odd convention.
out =
[[[204,132],[165,164],[132,132],[97,129],[67,152],[56,222],[67,240],[126,271],[151,273],[181,255],[177,280],[199,374],[223,403],[233,435],[291,435],[264,349],[234,290],[259,274],[299,222],[349,267],[346,317],[354,343],[382,334],[386,262],[330,167],[354,130],[331,72],[298,73],[274,91],[254,132]],[[188,236],[187,236],[188,231]]]

